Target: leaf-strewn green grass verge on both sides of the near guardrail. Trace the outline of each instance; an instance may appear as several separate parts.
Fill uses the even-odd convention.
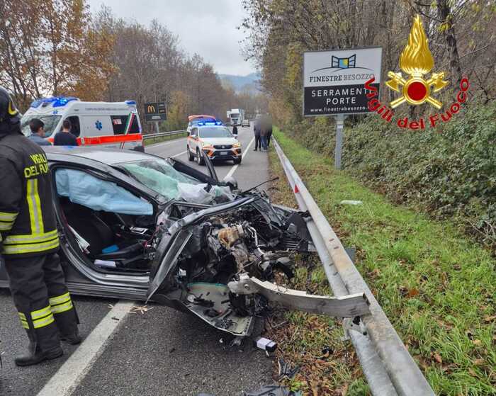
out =
[[[451,222],[393,205],[329,159],[310,152],[283,132],[274,135],[302,176],[345,246],[355,247],[359,268],[378,302],[437,395],[496,395],[495,259]],[[272,194],[293,205],[277,155],[271,167],[281,179]],[[339,205],[344,199],[363,205]],[[329,293],[322,268],[297,264],[293,287]],[[300,371],[288,385],[308,395],[367,395],[351,345],[340,340],[334,319],[290,312],[269,323],[280,356]],[[275,322],[275,321],[273,321]],[[329,347],[331,356],[322,356]]]

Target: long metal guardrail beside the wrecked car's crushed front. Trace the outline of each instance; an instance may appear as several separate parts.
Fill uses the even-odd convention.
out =
[[[359,356],[372,394],[433,396],[434,391],[275,139],[274,147],[300,210],[308,210],[312,217],[307,223],[308,230],[325,268],[332,292],[336,296],[365,293],[371,304],[371,315],[363,315],[359,324],[345,319],[344,328]]]

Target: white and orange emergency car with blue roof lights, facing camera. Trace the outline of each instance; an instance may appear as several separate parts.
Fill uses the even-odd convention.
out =
[[[191,125],[186,140],[188,160],[204,165],[203,155],[211,160],[233,161],[241,164],[241,143],[221,121],[200,121]]]

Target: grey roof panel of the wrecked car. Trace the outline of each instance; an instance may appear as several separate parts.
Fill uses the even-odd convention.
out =
[[[79,162],[79,158],[92,159],[107,165],[156,158],[152,154],[128,149],[106,149],[103,147],[42,146],[51,161]]]

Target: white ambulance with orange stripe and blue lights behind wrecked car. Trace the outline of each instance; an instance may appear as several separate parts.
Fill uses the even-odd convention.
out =
[[[144,151],[140,118],[135,101],[84,102],[74,97],[40,98],[31,103],[21,118],[23,134],[31,134],[29,122],[38,118],[45,124],[45,138],[53,143],[64,120],[80,146]]]

